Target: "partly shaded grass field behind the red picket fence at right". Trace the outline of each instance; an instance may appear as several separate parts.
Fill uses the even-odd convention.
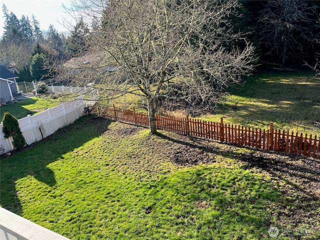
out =
[[[320,76],[314,72],[261,73],[247,78],[243,86],[229,88],[216,115],[202,119],[268,129],[320,135]]]

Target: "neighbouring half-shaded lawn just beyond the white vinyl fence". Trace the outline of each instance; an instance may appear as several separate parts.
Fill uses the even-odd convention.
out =
[[[5,111],[10,112],[15,118],[20,119],[28,114],[33,115],[45,111],[65,101],[65,97],[52,98],[52,95],[41,95],[19,100],[14,104],[2,105],[0,107],[0,119],[2,120]]]

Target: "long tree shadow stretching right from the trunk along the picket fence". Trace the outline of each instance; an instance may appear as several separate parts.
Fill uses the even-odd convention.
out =
[[[232,147],[236,148],[240,146],[234,146],[228,143],[221,143],[222,146],[224,145],[229,148],[229,150],[224,150],[223,147],[218,148],[216,145],[212,146],[212,144],[210,144],[219,144],[217,142],[210,142],[196,137],[182,136],[178,139],[162,133],[158,133],[158,136],[190,148],[201,149],[203,152],[214,153],[239,160],[241,163],[244,163],[243,168],[245,169],[257,168],[266,171],[271,176],[290,184],[301,194],[309,196],[310,199],[320,199],[320,161],[317,159],[293,154],[268,153],[247,147],[241,148],[246,148],[248,151],[239,153],[233,151]],[[301,184],[299,185],[296,182]],[[305,184],[317,185],[318,189],[305,187]],[[316,190],[318,190],[318,192]]]

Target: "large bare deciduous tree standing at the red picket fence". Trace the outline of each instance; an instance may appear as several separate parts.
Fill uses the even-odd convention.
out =
[[[156,132],[159,99],[210,108],[221,90],[253,68],[253,46],[234,32],[234,0],[77,0],[79,19],[93,25],[88,36],[98,65],[82,64],[80,82],[103,84],[108,97],[144,97],[150,131]],[[80,18],[81,17],[81,18]],[[233,46],[237,40],[242,48]],[[107,69],[112,68],[112,71]]]

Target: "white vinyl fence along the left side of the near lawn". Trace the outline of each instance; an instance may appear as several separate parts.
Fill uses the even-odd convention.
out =
[[[66,126],[83,115],[86,106],[84,97],[81,95],[75,100],[64,102],[46,111],[27,115],[18,120],[21,132],[25,138],[26,144],[31,144],[52,134],[57,129]],[[3,146],[4,152],[13,150],[12,138],[4,138],[2,132],[2,122],[0,124],[0,146]]]

